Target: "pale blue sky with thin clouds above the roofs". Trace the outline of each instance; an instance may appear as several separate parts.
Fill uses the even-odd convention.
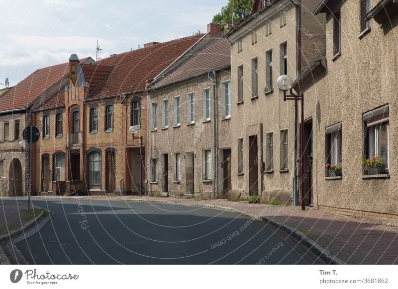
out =
[[[227,0],[0,0],[0,83],[71,54],[96,59],[206,31]],[[4,86],[0,85],[0,89]]]

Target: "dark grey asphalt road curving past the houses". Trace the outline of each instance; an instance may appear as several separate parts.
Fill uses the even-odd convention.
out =
[[[15,245],[30,264],[321,264],[293,237],[190,206],[33,199],[54,214]]]

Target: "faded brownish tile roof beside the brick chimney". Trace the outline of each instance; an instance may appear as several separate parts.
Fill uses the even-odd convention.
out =
[[[195,76],[207,74],[209,71],[222,69],[231,65],[231,45],[225,38],[212,38],[200,49],[188,53],[183,63],[171,70],[150,89],[183,81]]]

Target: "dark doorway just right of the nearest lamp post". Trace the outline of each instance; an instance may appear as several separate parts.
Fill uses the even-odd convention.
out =
[[[305,205],[312,206],[312,119],[304,123]]]

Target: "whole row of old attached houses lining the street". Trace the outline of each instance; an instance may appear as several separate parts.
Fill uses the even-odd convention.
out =
[[[209,24],[202,35],[38,70],[0,98],[1,194],[27,192],[28,148],[19,141],[33,124],[35,194],[285,204],[304,182],[306,206],[398,224],[397,8],[255,0],[228,33]],[[282,74],[303,94],[304,123],[277,88]],[[295,183],[300,126],[305,172]],[[364,159],[382,166],[367,169]]]

